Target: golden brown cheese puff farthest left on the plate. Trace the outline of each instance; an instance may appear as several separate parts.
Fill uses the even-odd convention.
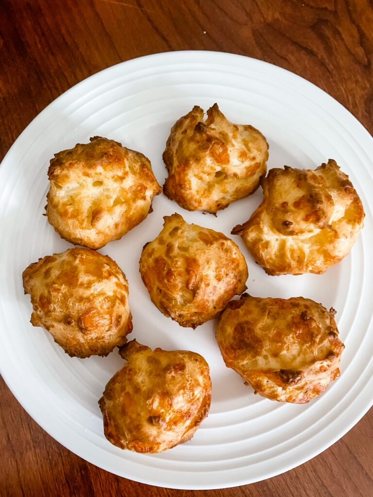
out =
[[[31,324],[45,328],[70,356],[107,355],[132,331],[128,283],[107,255],[70,248],[30,264],[22,274]]]

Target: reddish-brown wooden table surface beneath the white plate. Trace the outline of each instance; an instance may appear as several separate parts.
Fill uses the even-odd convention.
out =
[[[373,132],[368,0],[1,0],[0,49],[0,159],[70,86],[170,50],[220,50],[281,66],[325,89]],[[47,435],[2,380],[0,407],[1,496],[373,496],[373,410],[286,474],[193,493],[137,484],[85,462]]]

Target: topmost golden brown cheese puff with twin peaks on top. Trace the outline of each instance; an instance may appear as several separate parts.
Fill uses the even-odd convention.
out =
[[[163,160],[164,192],[189,211],[216,213],[247,197],[266,174],[268,143],[253,126],[232,124],[215,103],[193,107],[171,129]]]

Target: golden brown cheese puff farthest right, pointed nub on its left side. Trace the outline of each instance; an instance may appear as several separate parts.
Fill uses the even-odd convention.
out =
[[[261,205],[232,234],[273,276],[323,273],[350,252],[363,228],[359,195],[332,159],[316,170],[271,169],[263,190]]]

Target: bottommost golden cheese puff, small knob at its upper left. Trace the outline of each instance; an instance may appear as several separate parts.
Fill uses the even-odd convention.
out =
[[[136,340],[120,353],[128,362],[98,401],[105,437],[136,452],[162,452],[190,440],[211,403],[203,357],[185,350],[153,352]]]

